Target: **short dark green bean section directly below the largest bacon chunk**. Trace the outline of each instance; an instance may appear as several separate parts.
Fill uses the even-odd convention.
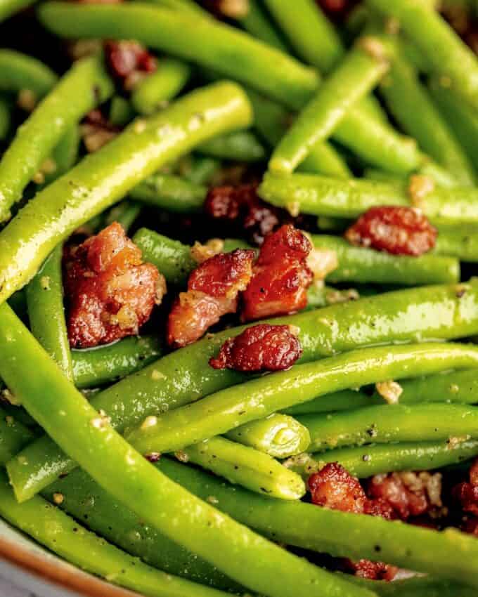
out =
[[[132,336],[106,346],[72,350],[75,386],[98,388],[117,381],[143,369],[161,352],[160,343],[154,336]]]

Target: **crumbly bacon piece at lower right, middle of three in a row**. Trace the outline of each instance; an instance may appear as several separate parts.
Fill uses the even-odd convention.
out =
[[[375,475],[368,483],[368,494],[387,502],[398,518],[407,520],[441,507],[441,474]]]

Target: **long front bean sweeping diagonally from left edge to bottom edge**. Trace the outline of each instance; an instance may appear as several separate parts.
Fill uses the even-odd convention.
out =
[[[324,597],[373,596],[366,589],[351,591],[347,582],[262,539],[155,471],[85,403],[6,304],[0,306],[0,353],[0,374],[11,392],[86,472],[145,523],[271,597],[305,596],[311,584],[321,586]],[[20,375],[20,355],[41,375]]]

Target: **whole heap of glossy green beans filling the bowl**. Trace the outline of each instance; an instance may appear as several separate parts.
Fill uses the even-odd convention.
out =
[[[450,496],[478,459],[476,55],[434,0],[344,20],[315,0],[30,4],[0,0],[0,37],[34,18],[45,33],[33,55],[23,35],[0,48],[1,519],[145,597],[472,597],[478,544]],[[433,246],[349,242],[382,206],[419,211]],[[129,240],[111,263],[103,235],[77,249],[113,223]],[[310,255],[275,250],[269,295],[254,261],[280,315],[245,320],[247,275],[238,290],[221,254],[265,258],[285,223]],[[174,348],[178,314],[193,332],[221,310],[206,284],[222,269],[235,312]],[[281,284],[309,284],[306,305],[280,311]],[[118,339],[77,347],[75,325],[96,324]],[[258,324],[296,336],[292,367],[256,368]],[[223,347],[240,364],[215,369]],[[309,477],[330,463],[365,490],[438,471],[444,509],[424,518],[457,528],[317,506]],[[424,576],[362,579],[337,558]]]

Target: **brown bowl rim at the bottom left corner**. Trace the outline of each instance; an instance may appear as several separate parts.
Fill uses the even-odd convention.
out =
[[[40,579],[85,597],[138,597],[139,594],[96,578],[75,565],[64,566],[54,560],[45,560],[5,537],[0,537],[0,558]],[[62,560],[62,563],[67,562]]]

